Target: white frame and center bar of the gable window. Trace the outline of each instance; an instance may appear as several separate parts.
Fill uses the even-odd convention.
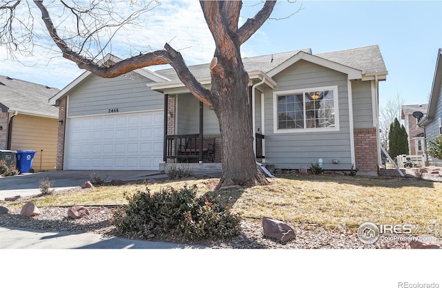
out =
[[[334,127],[327,128],[278,128],[278,97],[291,94],[304,95],[305,92],[314,92],[318,90],[333,90],[333,103],[334,103]],[[339,129],[339,91],[338,86],[323,86],[314,88],[303,88],[296,90],[282,90],[273,92],[273,133],[311,133],[311,132],[334,132],[340,131]],[[303,97],[305,103],[305,97]],[[305,117],[305,105],[304,105],[304,121]]]

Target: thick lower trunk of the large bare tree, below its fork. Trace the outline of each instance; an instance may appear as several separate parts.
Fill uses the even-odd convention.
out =
[[[253,153],[251,109],[247,95],[249,76],[244,71],[239,55],[238,59],[233,61],[237,65],[233,66],[222,63],[229,61],[231,64],[231,59],[218,57],[217,65],[224,67],[224,74],[212,73],[211,89],[214,98],[212,104],[222,135],[222,177],[217,188],[266,184],[265,176],[257,169]],[[216,70],[215,67],[213,70]]]

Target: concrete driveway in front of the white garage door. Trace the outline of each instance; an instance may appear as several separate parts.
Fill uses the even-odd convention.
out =
[[[24,173],[21,175],[0,178],[0,200],[20,195],[21,197],[37,195],[40,192],[39,180],[43,177],[54,182],[53,188],[57,190],[81,186],[90,180],[90,175],[103,178],[106,182],[112,180],[134,181],[148,180],[151,178],[164,178],[166,174],[159,171],[48,171],[39,173]]]

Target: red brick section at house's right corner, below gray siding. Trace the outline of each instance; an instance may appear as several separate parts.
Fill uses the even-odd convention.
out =
[[[378,144],[376,128],[354,129],[354,152],[358,174],[378,175]]]

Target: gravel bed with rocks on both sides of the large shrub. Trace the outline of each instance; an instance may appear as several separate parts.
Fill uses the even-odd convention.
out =
[[[1,205],[1,203],[0,203]],[[90,215],[73,219],[68,217],[70,207],[41,207],[41,215],[24,217],[21,208],[10,208],[0,215],[0,225],[43,231],[71,231],[76,233],[99,233],[116,236],[115,227],[110,224],[117,207],[87,207]],[[244,219],[240,235],[229,241],[198,242],[213,249],[407,249],[408,242],[385,241],[381,238],[375,244],[363,244],[356,233],[347,227],[320,227],[316,224],[291,224],[296,239],[282,243],[264,236],[261,220]],[[120,236],[121,237],[121,236]],[[167,241],[166,238],[152,238],[154,241]],[[187,244],[191,244],[187,242]]]

